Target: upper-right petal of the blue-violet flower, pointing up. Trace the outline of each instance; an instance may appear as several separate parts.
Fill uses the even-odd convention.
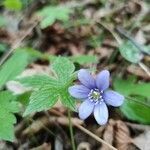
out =
[[[96,76],[96,86],[100,91],[106,90],[109,87],[109,76],[108,70],[103,70]]]

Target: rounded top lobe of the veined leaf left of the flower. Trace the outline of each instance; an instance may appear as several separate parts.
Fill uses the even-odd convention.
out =
[[[56,74],[58,81],[66,84],[70,80],[75,67],[67,58],[58,57],[52,64],[52,69]]]

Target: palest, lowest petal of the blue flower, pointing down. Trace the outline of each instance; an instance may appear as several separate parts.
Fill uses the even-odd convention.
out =
[[[108,108],[104,102],[97,104],[94,108],[94,117],[98,124],[104,125],[108,120]]]

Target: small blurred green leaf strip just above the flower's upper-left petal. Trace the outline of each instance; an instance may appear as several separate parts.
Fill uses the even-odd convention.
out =
[[[90,64],[90,63],[97,63],[98,59],[96,56],[92,55],[81,55],[81,56],[72,56],[70,59],[73,62],[77,62],[79,64]]]

